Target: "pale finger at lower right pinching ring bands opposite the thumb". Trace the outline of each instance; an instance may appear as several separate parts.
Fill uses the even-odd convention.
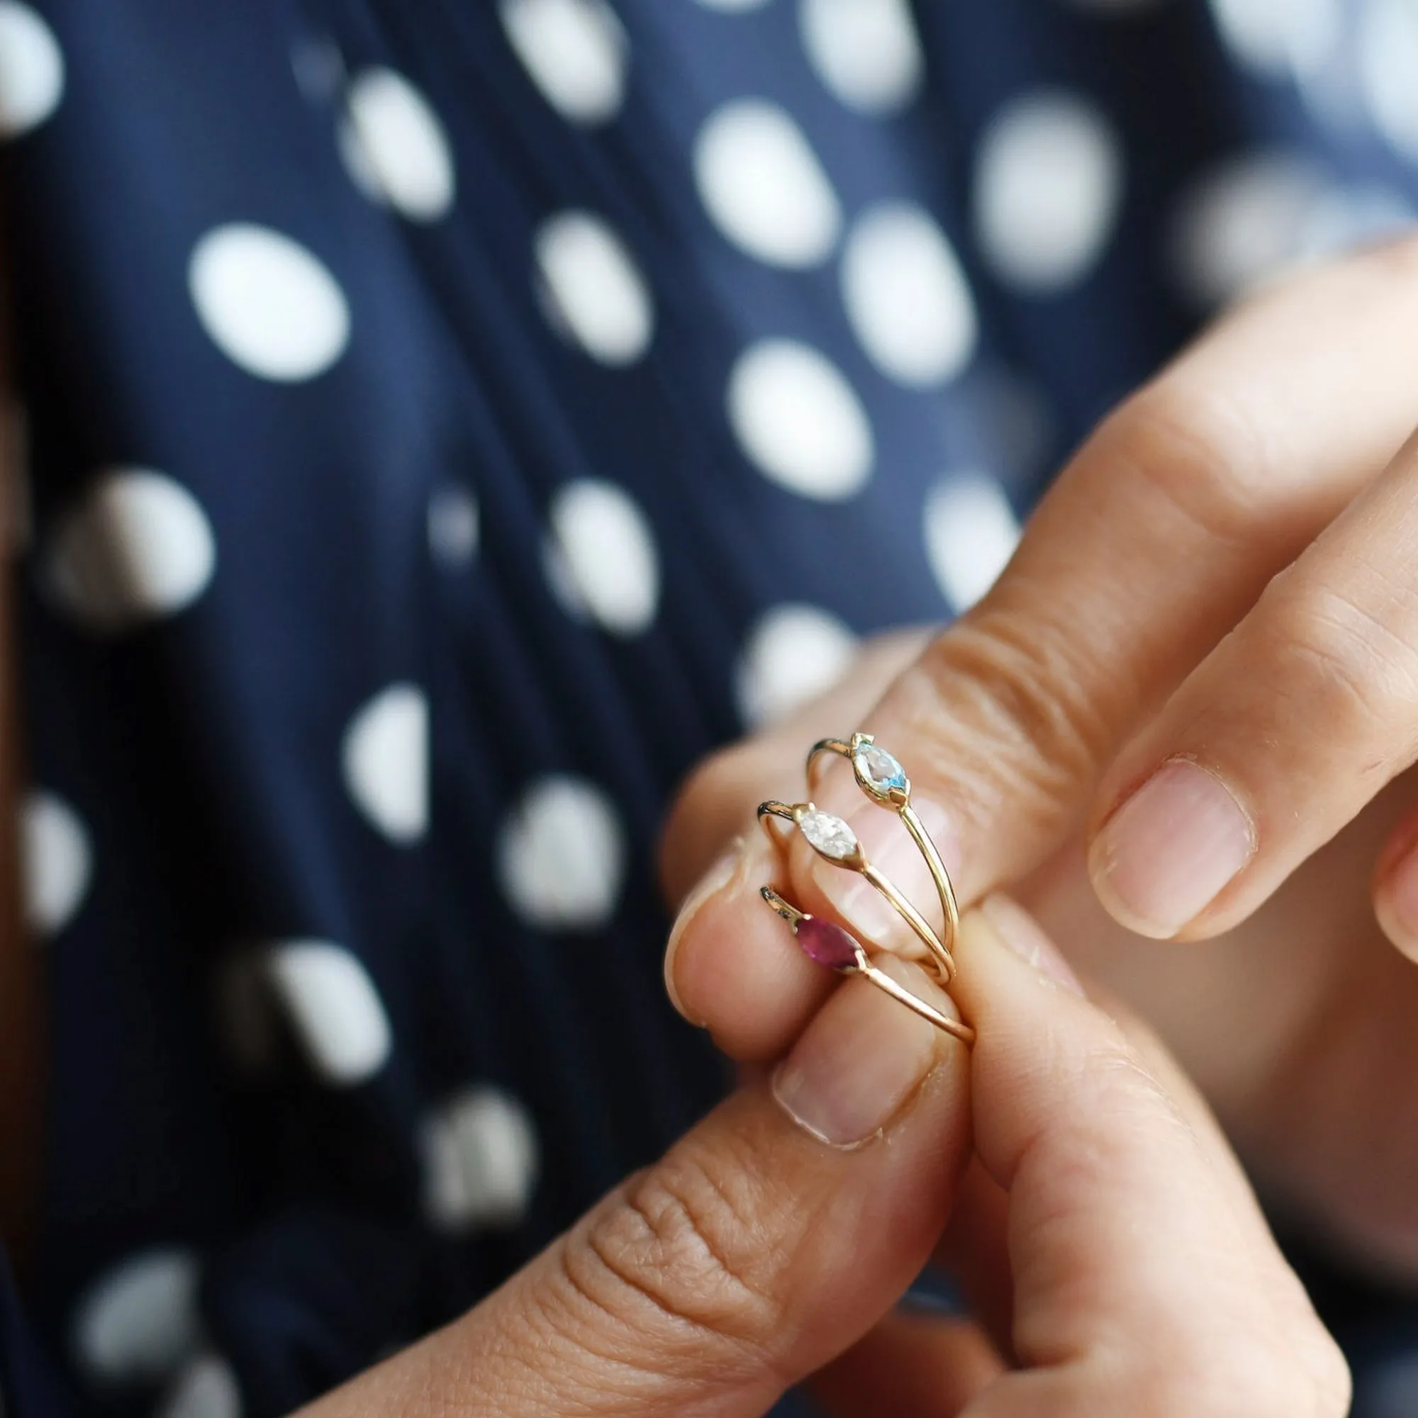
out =
[[[970,1418],[1347,1412],[1334,1341],[1160,1044],[1089,1004],[1003,898],[964,919],[960,959],[1021,1364]]]

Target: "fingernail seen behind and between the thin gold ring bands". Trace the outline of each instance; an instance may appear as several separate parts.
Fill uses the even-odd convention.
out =
[[[854,786],[854,791],[858,791]],[[859,794],[858,794],[859,795]],[[936,844],[949,872],[959,865],[960,851],[954,825],[944,808],[926,800],[912,804],[930,839]],[[936,886],[920,849],[900,820],[873,803],[855,803],[844,814],[862,844],[866,859],[937,929],[944,929]],[[920,959],[926,947],[896,915],[891,903],[871,882],[847,872],[822,858],[814,858],[813,876],[818,889],[834,905],[845,925],[865,940],[906,959]]]

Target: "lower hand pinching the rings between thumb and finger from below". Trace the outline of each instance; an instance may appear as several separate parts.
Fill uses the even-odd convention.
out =
[[[1161,1049],[1075,994],[1018,908],[960,950],[973,1069],[845,983],[771,1079],[309,1418],[749,1418],[814,1373],[837,1418],[1346,1412],[1339,1351]],[[973,1326],[889,1313],[933,1251],[1012,1333],[1010,1368]]]

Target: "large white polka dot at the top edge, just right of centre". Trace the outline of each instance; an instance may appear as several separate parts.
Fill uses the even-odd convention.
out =
[[[849,108],[892,112],[920,89],[925,58],[906,0],[801,0],[803,45]]]

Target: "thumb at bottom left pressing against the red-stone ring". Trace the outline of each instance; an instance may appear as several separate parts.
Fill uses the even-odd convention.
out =
[[[919,968],[889,968],[953,1012]],[[851,978],[771,1078],[464,1319],[316,1411],[761,1414],[919,1273],[968,1137],[967,1051]]]

